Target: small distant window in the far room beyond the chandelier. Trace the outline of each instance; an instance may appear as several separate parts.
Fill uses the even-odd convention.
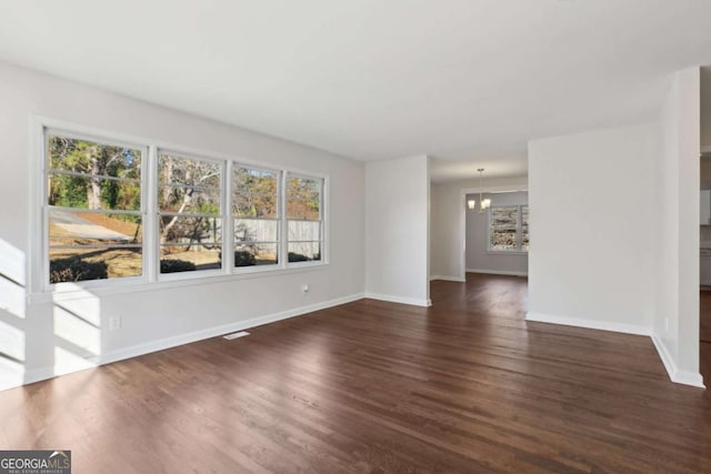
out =
[[[489,250],[529,250],[529,206],[502,205],[489,211]]]

